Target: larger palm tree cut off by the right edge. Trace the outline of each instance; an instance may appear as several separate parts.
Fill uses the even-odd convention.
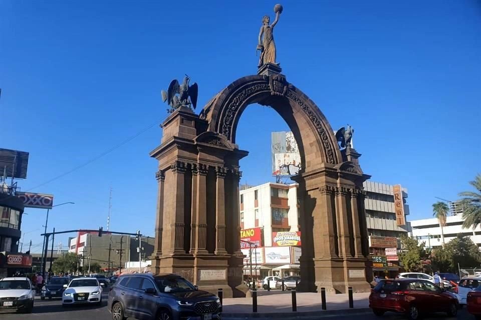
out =
[[[477,174],[474,177],[474,181],[469,181],[474,189],[477,191],[464,191],[459,193],[459,196],[463,196],[462,203],[462,218],[464,222],[462,227],[475,228],[481,224],[481,174]]]

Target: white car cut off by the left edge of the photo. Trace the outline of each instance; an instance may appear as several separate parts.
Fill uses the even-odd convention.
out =
[[[0,280],[0,310],[32,313],[35,287],[29,278],[11,277]]]

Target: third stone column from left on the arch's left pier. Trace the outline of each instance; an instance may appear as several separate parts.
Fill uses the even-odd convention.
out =
[[[207,254],[207,173],[208,166],[197,163],[197,193],[194,254]]]

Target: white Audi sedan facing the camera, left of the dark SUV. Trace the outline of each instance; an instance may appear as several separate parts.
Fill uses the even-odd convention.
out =
[[[74,278],[64,287],[62,306],[78,303],[102,303],[102,285],[96,278]]]

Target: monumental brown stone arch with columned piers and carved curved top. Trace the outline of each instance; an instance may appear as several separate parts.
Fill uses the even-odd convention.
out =
[[[275,10],[277,22],[282,6]],[[272,36],[268,26],[264,31]],[[272,60],[275,46],[268,42],[263,42],[271,50],[265,58]],[[150,152],[158,161],[153,268],[189,274],[202,289],[222,288],[225,297],[245,296],[239,160],[249,152],[239,148],[235,135],[246,107],[260,103],[283,117],[301,154],[302,167],[293,177],[300,197],[300,289],[344,293],[352,286],[354,292],[368,292],[372,272],[362,183],[370,176],[350,144],[352,127],[338,130],[343,135],[336,137],[314,101],[281,71],[268,61],[258,74],[228,84],[199,115],[179,106],[162,123],[162,142]]]

